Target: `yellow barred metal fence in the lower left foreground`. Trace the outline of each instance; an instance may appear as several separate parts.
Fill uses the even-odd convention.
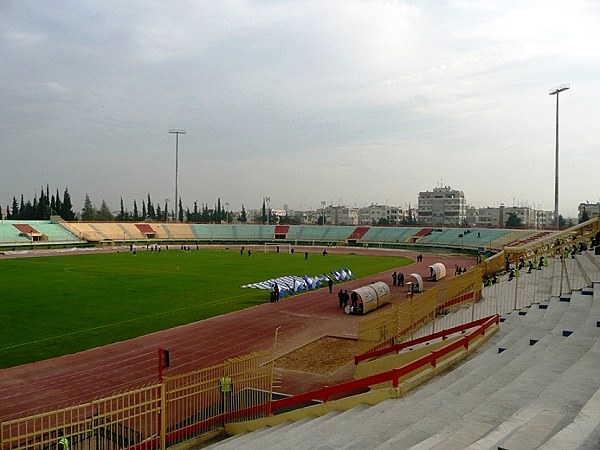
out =
[[[127,392],[8,420],[0,423],[0,449],[53,450],[63,437],[73,450],[167,448],[226,422],[267,415],[272,373],[271,353],[258,352]]]

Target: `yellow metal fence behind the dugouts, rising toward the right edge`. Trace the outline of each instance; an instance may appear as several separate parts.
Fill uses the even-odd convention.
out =
[[[575,258],[600,244],[600,218],[505,249],[407,302],[359,322],[364,353],[548,300],[586,284]],[[585,277],[585,274],[583,275]],[[589,284],[589,280],[588,283]],[[393,331],[392,331],[393,330]]]

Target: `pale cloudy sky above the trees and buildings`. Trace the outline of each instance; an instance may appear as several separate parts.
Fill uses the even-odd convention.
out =
[[[0,0],[0,205],[600,201],[600,3]],[[170,129],[184,129],[176,138]],[[178,157],[176,157],[178,153]],[[177,160],[177,161],[176,161]]]

